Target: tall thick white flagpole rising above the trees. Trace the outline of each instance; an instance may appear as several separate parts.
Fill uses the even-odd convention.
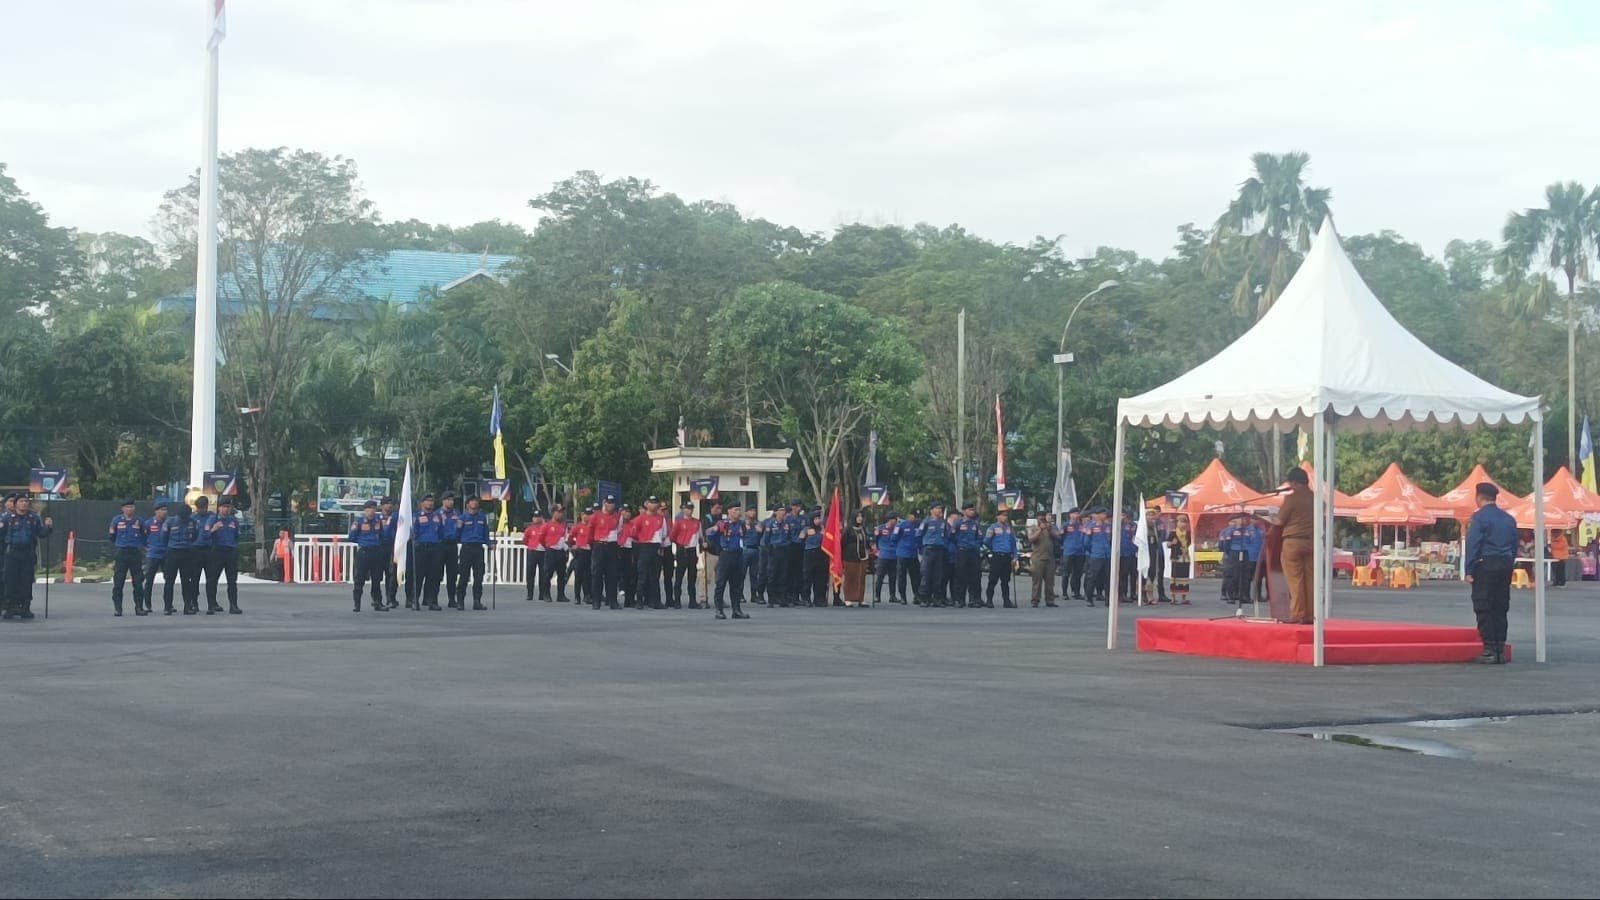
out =
[[[189,487],[205,484],[216,468],[216,58],[222,40],[222,2],[205,0],[206,40],[205,123],[200,157],[198,264],[195,266],[195,376],[190,421]]]

